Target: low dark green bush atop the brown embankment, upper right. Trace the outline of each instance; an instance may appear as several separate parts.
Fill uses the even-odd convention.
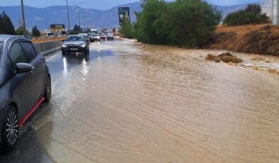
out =
[[[268,16],[261,13],[261,6],[258,4],[249,4],[244,10],[229,13],[223,23],[228,26],[268,23]]]

